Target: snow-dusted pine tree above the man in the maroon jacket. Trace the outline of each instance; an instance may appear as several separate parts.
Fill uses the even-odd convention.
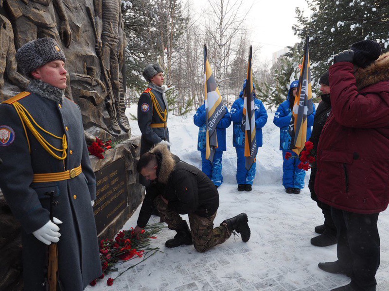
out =
[[[302,40],[309,36],[312,72],[324,73],[333,56],[349,49],[354,42],[373,39],[389,49],[389,0],[310,0],[310,18],[297,8],[295,34]],[[318,78],[317,78],[318,79]]]

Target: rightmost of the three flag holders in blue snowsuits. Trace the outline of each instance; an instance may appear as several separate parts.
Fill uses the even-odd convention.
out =
[[[285,187],[285,192],[288,194],[300,194],[301,189],[304,188],[305,178],[305,171],[298,168],[300,163],[298,155],[290,150],[292,137],[288,131],[290,120],[292,119],[292,108],[298,85],[299,81],[290,83],[288,96],[278,107],[273,119],[273,123],[280,128],[280,150],[283,151],[283,186]],[[308,115],[307,120],[307,140],[312,133],[311,127],[313,126],[315,114],[316,108],[315,105],[313,105],[313,113]],[[292,155],[288,160],[285,159],[285,154],[287,152]]]

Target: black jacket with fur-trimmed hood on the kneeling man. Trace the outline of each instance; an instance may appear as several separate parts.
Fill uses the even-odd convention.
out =
[[[157,145],[151,152],[159,159],[159,173],[143,200],[138,226],[146,226],[153,211],[153,200],[160,194],[169,201],[168,207],[179,214],[195,213],[210,217],[216,212],[219,193],[207,175],[182,162],[166,145]]]

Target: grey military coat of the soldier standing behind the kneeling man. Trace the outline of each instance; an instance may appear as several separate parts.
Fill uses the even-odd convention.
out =
[[[150,88],[149,88],[150,89]],[[167,122],[167,113],[169,111],[166,98],[155,89],[147,89],[141,94],[138,101],[138,125],[141,129],[141,155],[148,152],[150,148],[160,143],[162,140],[169,142],[169,129],[167,127],[162,128],[152,128],[152,124],[162,124],[164,121],[158,114],[158,111],[166,110],[166,120]],[[157,108],[152,102],[150,93],[154,94],[157,101]],[[159,107],[159,108],[158,108]],[[162,114],[162,117],[165,118],[165,115]]]

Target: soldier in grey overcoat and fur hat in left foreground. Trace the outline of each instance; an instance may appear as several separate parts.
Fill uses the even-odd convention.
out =
[[[58,273],[66,291],[81,291],[102,275],[92,210],[96,179],[90,166],[80,108],[64,97],[65,56],[51,38],[17,52],[33,77],[0,104],[0,188],[22,228],[24,290],[45,290],[48,246],[58,245]],[[50,220],[50,199],[58,205]],[[58,241],[59,240],[59,241]]]

